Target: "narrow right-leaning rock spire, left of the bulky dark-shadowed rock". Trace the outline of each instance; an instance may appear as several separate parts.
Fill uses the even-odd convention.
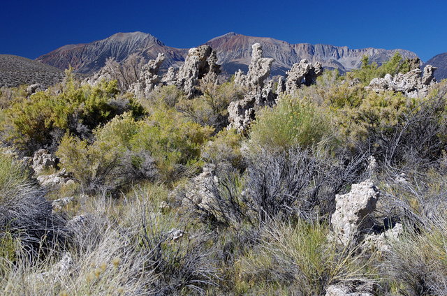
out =
[[[138,81],[133,83],[129,88],[135,96],[145,97],[161,82],[159,70],[161,64],[166,59],[164,54],[159,54],[156,59],[151,59],[142,66]]]

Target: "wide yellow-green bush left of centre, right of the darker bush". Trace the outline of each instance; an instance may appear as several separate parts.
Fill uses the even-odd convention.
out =
[[[136,179],[154,179],[156,170],[163,179],[175,179],[179,166],[198,164],[212,131],[173,109],[155,110],[141,121],[127,112],[96,128],[92,144],[66,135],[57,156],[86,191],[114,191]]]

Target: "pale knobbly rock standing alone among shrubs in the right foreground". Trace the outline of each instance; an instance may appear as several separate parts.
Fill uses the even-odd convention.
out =
[[[370,180],[353,184],[349,193],[335,196],[336,209],[330,222],[337,242],[345,246],[356,243],[364,230],[372,228],[370,214],[378,199],[379,190]]]

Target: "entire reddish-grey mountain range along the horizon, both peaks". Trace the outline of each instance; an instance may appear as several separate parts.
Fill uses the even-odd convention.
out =
[[[233,74],[239,68],[247,71],[251,61],[251,45],[254,43],[261,43],[264,56],[274,59],[272,75],[284,75],[285,71],[288,71],[294,63],[301,59],[319,61],[325,68],[337,68],[344,72],[358,68],[362,56],[365,54],[379,64],[393,57],[396,51],[399,51],[403,57],[417,57],[414,52],[408,50],[383,50],[372,47],[351,50],[346,46],[291,44],[273,38],[244,36],[235,33],[213,38],[205,44],[217,51],[223,72]],[[162,68],[166,69],[169,66],[179,66],[184,61],[188,50],[168,47],[150,34],[133,32],[118,33],[92,43],[65,45],[38,57],[37,60],[61,69],[71,65],[78,73],[91,73],[98,71],[108,57],[115,57],[117,61],[123,61],[130,54],[138,54],[145,59],[155,59],[159,52],[166,55],[166,60],[162,65]]]

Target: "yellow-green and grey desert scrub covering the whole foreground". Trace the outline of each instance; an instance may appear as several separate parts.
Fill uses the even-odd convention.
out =
[[[69,72],[31,96],[3,89],[0,294],[325,295],[343,284],[446,295],[447,85],[425,98],[364,89],[405,63],[326,71],[259,110],[247,138],[225,128],[244,94],[233,82],[192,100],[175,87],[134,98]],[[42,148],[74,182],[38,184],[24,156]],[[330,239],[335,195],[365,179],[381,192],[376,231],[404,225],[386,251]]]

